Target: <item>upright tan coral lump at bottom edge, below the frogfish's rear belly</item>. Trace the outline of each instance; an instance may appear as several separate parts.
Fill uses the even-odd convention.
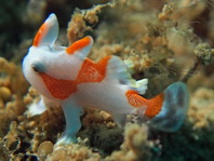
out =
[[[128,124],[124,130],[124,142],[120,151],[115,151],[106,161],[118,160],[150,160],[151,144],[148,139],[148,128],[146,125]]]

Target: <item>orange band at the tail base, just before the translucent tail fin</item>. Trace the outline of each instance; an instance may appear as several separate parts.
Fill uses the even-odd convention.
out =
[[[147,109],[145,111],[145,116],[149,118],[153,118],[160,112],[164,99],[163,93],[152,99],[142,97],[136,91],[128,91],[125,95],[130,105],[136,108],[146,106]]]

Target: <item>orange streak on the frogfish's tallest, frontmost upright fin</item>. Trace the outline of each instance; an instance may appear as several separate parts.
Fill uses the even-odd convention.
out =
[[[48,31],[48,25],[44,23],[40,28],[37,35],[35,36],[32,45],[38,46],[41,42],[42,38],[46,35]]]

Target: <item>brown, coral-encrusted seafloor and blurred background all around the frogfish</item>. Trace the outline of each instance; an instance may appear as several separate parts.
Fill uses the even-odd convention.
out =
[[[214,1],[29,0],[1,2],[0,160],[212,161],[214,158]],[[190,103],[174,133],[130,121],[119,128],[105,111],[86,109],[78,144],[55,145],[65,129],[61,107],[29,116],[40,99],[22,73],[22,59],[39,26],[56,13],[58,44],[94,38],[90,58],[117,55],[148,78],[147,98],[187,83]]]

